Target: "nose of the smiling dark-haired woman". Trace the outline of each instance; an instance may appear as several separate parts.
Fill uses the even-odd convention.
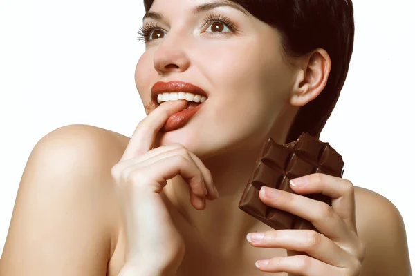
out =
[[[190,59],[185,51],[185,39],[173,36],[163,38],[154,52],[154,68],[160,75],[169,72],[183,72],[190,66]]]

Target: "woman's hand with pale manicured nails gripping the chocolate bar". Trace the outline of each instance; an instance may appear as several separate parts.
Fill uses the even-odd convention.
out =
[[[291,181],[300,195],[263,187],[264,204],[310,221],[317,230],[270,230],[249,233],[250,244],[263,248],[285,248],[288,257],[259,260],[264,272],[286,272],[304,276],[358,276],[365,246],[356,230],[354,186],[351,181],[330,175],[313,174]],[[302,195],[322,193],[332,206]],[[305,253],[305,254],[304,254]]]

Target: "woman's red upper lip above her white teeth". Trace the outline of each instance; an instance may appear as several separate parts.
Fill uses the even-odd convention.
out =
[[[151,101],[153,101],[156,106],[160,105],[157,102],[157,95],[163,92],[187,92],[208,98],[208,94],[206,94],[202,88],[195,86],[192,83],[187,83],[185,81],[158,81],[154,83],[154,86],[151,88]]]

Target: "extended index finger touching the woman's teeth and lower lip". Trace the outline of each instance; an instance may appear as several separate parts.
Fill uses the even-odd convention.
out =
[[[163,127],[167,119],[176,112],[183,110],[187,101],[165,101],[158,108],[142,119],[129,141],[120,161],[131,159],[151,150],[157,132]]]

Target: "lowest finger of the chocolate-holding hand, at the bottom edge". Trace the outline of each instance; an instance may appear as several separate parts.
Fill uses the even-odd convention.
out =
[[[286,272],[298,276],[347,275],[345,273],[347,268],[331,266],[306,255],[260,260],[255,266],[264,272]]]

